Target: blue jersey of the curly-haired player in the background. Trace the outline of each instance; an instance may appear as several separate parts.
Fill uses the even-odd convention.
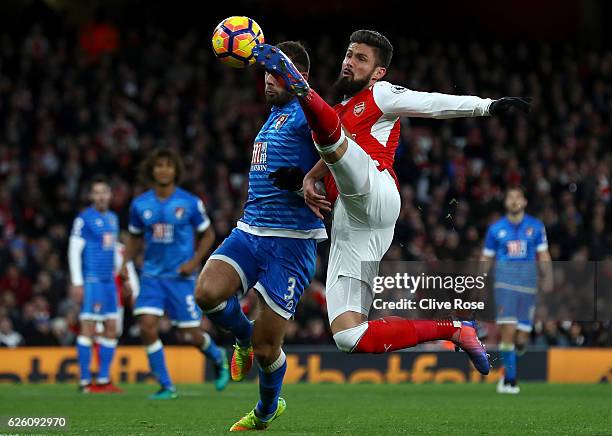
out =
[[[153,190],[136,197],[130,205],[129,231],[144,236],[142,274],[183,278],[177,270],[194,255],[195,233],[209,226],[202,200],[183,189],[176,188],[165,200]]]

